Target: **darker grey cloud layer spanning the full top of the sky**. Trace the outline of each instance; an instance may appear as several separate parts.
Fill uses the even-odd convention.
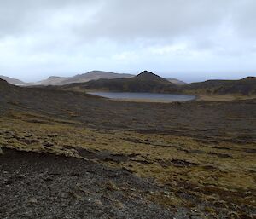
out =
[[[0,3],[0,36],[22,34],[40,27],[47,29],[50,18],[64,10],[68,16],[69,8],[76,7],[78,13],[73,26],[65,26],[75,37],[84,39],[109,37],[113,39],[134,39],[140,37],[172,38],[188,35],[211,35],[218,26],[232,17],[231,24],[237,30],[255,34],[255,2],[253,0],[9,0]],[[93,22],[84,17],[83,9],[98,7]],[[83,8],[84,7],[84,8]],[[241,10],[241,7],[244,9]],[[241,10],[237,11],[237,9]],[[44,23],[45,20],[48,23]],[[84,20],[84,23],[83,23]],[[42,31],[42,30],[41,30]],[[54,36],[53,36],[54,37]]]

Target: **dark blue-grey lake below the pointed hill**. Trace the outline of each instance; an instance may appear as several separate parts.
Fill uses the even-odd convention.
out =
[[[99,95],[116,100],[135,100],[135,101],[192,101],[195,95],[172,95],[172,94],[153,94],[153,93],[130,93],[130,92],[89,92],[91,95]]]

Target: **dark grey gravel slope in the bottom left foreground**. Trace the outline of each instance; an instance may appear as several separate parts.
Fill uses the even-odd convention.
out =
[[[127,170],[44,153],[3,153],[0,218],[200,218],[148,201],[160,188]]]

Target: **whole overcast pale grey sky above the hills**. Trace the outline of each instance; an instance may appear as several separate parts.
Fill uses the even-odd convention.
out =
[[[0,0],[0,74],[256,76],[255,0]]]

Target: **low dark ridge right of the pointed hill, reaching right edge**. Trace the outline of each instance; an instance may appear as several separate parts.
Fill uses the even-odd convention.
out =
[[[193,94],[240,94],[256,95],[256,77],[241,80],[208,80],[200,83],[185,84],[182,91]]]

